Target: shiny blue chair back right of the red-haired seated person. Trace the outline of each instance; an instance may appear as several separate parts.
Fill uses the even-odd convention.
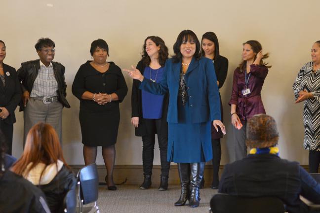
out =
[[[80,181],[80,198],[83,200],[83,204],[97,201],[99,177],[96,163],[80,169],[77,180]]]

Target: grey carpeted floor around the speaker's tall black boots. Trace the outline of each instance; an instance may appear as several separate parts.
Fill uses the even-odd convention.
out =
[[[117,187],[117,191],[109,191],[106,186],[99,186],[100,213],[208,213],[210,199],[217,193],[217,190],[211,188],[200,189],[200,206],[190,208],[188,205],[173,205],[180,196],[178,185],[169,186],[167,191],[158,191],[156,187],[140,190],[138,185]]]

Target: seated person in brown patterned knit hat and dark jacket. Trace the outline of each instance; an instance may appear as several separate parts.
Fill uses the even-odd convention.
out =
[[[258,114],[247,122],[246,145],[250,154],[225,166],[220,193],[241,197],[278,197],[289,213],[300,212],[299,195],[320,204],[320,185],[298,162],[279,157],[276,121]]]

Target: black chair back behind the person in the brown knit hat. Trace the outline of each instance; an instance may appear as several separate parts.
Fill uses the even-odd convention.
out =
[[[211,198],[212,213],[284,213],[282,201],[277,197],[244,198],[216,194]]]

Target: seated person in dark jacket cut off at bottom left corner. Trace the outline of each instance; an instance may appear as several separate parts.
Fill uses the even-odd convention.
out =
[[[0,168],[5,168],[5,142],[0,131]],[[45,196],[31,182],[0,169],[0,213],[50,213]]]

